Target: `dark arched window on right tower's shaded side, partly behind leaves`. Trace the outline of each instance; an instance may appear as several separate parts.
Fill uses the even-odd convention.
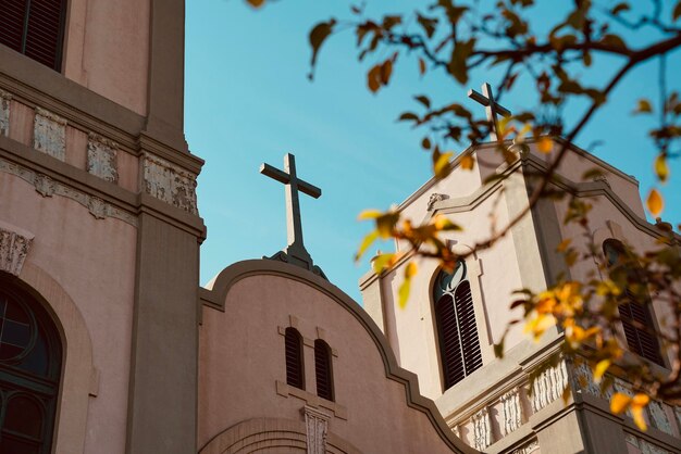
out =
[[[624,283],[622,301],[618,306],[629,350],[660,366],[664,365],[655,326],[649,312],[651,297],[643,287],[641,274],[627,248],[620,241],[607,239],[603,253],[610,267],[610,277]]]

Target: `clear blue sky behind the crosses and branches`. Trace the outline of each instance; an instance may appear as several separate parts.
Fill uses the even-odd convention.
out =
[[[556,14],[556,3],[537,8],[540,23]],[[482,106],[466,93],[468,88],[480,90],[483,81],[494,85],[499,79],[494,72],[473,73],[469,86],[461,87],[435,72],[420,77],[416,60],[401,56],[389,86],[372,94],[366,85],[368,62],[357,62],[349,31],[323,45],[314,81],[308,80],[309,30],[331,16],[347,17],[349,4],[281,0],[256,11],[243,0],[187,2],[185,129],[190,150],[206,160],[197,189],[208,226],[201,283],[234,262],[269,256],[286,247],[284,187],[258,169],[263,162],[283,168],[283,156],[290,152],[299,177],[322,189],[318,200],[300,196],[305,244],[331,282],[360,302],[358,279],[369,264],[356,264],[352,256],[371,225],[356,220],[357,215],[401,202],[432,176],[430,155],[419,146],[422,133],[395,119],[412,110],[412,96],[421,93],[442,104],[481,109],[482,114]],[[368,12],[404,12],[420,4],[374,1]],[[616,63],[596,61],[595,71],[584,77],[597,83],[597,70]],[[628,76],[575,140],[635,176],[643,197],[655,184],[655,154],[646,138],[652,124],[630,113],[641,97],[657,100],[651,75],[656,65],[652,62]],[[678,51],[668,60],[668,74],[670,89],[679,90]],[[511,112],[533,102],[532,90],[522,84],[503,99]],[[581,105],[567,112],[577,115]],[[600,144],[591,148],[596,141]],[[455,151],[465,149],[462,144]],[[681,222],[679,161],[671,164],[663,194],[663,217],[676,226]]]

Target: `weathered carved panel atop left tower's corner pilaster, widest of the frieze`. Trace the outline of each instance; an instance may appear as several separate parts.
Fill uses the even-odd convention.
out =
[[[196,175],[159,156],[146,153],[145,191],[191,214],[196,206]]]

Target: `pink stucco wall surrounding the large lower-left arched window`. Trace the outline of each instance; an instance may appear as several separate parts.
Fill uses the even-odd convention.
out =
[[[91,339],[95,370],[81,383],[87,387],[76,390],[96,394],[87,408],[85,452],[124,452],[136,229],[111,217],[96,219],[73,200],[42,197],[5,173],[0,173],[0,193],[2,220],[35,235],[24,267],[39,268],[67,293]],[[65,355],[81,348],[64,345]]]

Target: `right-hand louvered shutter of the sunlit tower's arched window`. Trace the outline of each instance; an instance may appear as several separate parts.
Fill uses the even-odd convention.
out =
[[[478,339],[473,297],[471,295],[471,285],[468,280],[462,281],[459,287],[457,287],[455,302],[459,321],[459,332],[461,335],[463,367],[468,376],[482,366],[482,353],[480,351],[480,340]]]

